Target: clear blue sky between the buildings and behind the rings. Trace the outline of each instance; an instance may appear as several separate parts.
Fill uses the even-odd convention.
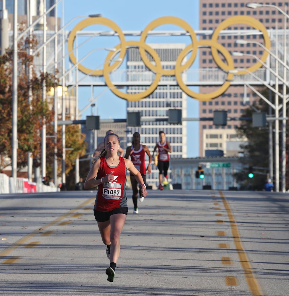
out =
[[[61,13],[59,9],[59,14]],[[100,13],[103,17],[109,18],[115,22],[122,30],[143,30],[146,26],[153,20],[163,16],[175,16],[179,17],[190,24],[194,30],[198,30],[198,13],[199,13],[199,3],[198,0],[110,0],[110,1],[99,1],[99,0],[64,0],[64,23],[68,23],[72,18],[78,15],[89,15]],[[61,15],[59,15],[61,16]],[[71,25],[67,26],[67,30],[72,30],[72,28],[80,22],[82,19],[75,20]],[[111,30],[108,27],[95,26],[95,28],[87,28],[87,30]],[[160,26],[156,30],[182,30],[182,28],[172,26]],[[118,42],[116,37],[108,37],[109,40],[102,39],[101,45],[94,39],[91,43],[87,43],[83,46],[83,55],[88,53],[92,48],[95,48],[95,43],[97,42],[97,47],[114,47]],[[139,40],[139,36],[134,40]],[[188,44],[190,41],[189,37],[187,40],[183,41],[177,38],[180,37],[151,37],[151,40],[147,39],[147,42],[151,43],[169,43],[169,42],[185,42]],[[94,42],[94,44],[93,44]],[[81,50],[79,52],[81,55]],[[101,54],[96,52],[96,54]],[[106,52],[107,54],[107,52]],[[80,59],[80,57],[79,57]],[[93,56],[85,61],[87,63],[85,66],[91,65],[92,62],[97,61],[101,64],[103,57]],[[193,67],[198,67],[197,60],[194,62]],[[92,67],[92,68],[95,68]],[[94,88],[93,96],[96,97],[104,89]],[[91,97],[91,90],[89,88],[82,90],[79,98],[79,109],[82,110],[88,103]],[[109,100],[109,105],[113,108],[109,108],[107,102]],[[100,115],[101,119],[108,118],[126,118],[126,101],[120,99],[111,91],[106,91],[103,95],[99,97],[96,101],[96,110],[88,108],[83,112],[83,118],[86,115],[94,114]],[[187,117],[198,117],[198,101],[192,98],[188,98],[187,102]],[[188,121],[188,157],[198,156],[198,122]]]

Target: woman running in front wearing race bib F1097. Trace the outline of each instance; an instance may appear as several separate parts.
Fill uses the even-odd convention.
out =
[[[120,233],[127,217],[127,195],[125,191],[126,170],[129,170],[141,185],[141,194],[147,196],[141,173],[129,159],[117,155],[120,139],[110,133],[104,138],[104,149],[93,163],[86,177],[84,188],[98,186],[93,207],[94,217],[104,244],[110,266],[106,268],[108,281],[114,281],[115,267],[120,255]]]

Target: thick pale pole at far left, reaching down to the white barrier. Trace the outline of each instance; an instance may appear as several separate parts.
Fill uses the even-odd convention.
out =
[[[18,56],[17,56],[17,7],[18,1],[14,0],[14,27],[13,27],[13,87],[12,87],[12,177],[14,181],[17,178],[17,149],[18,149],[18,138],[17,138],[17,122],[18,122]]]

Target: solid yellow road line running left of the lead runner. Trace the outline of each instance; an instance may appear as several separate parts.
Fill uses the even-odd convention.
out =
[[[41,226],[40,229],[34,230],[33,232],[31,232],[30,234],[26,235],[25,237],[22,237],[21,239],[18,239],[17,242],[14,242],[11,246],[5,248],[3,251],[0,252],[0,258],[7,256],[9,253],[11,253],[13,250],[15,250],[16,248],[20,247],[22,244],[24,244],[25,242],[27,242],[29,239],[31,239],[31,237],[34,237],[35,235],[39,234],[41,231],[43,231],[44,229],[60,222],[61,220],[63,220],[64,218],[70,216],[72,213],[75,213],[77,210],[81,209],[82,207],[84,207],[85,205],[89,204],[92,202],[92,200],[95,200],[95,197],[90,198],[89,200],[83,202],[82,204],[78,205],[76,208],[74,208],[73,210],[70,210],[69,212],[67,212],[66,214],[56,218],[55,220],[51,221],[50,223],[46,224],[45,226]]]

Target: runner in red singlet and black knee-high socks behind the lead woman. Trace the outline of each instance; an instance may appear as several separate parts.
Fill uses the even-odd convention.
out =
[[[146,154],[148,155],[147,167],[145,163]],[[138,132],[133,134],[132,145],[126,149],[125,158],[128,158],[129,156],[135,168],[137,168],[141,173],[141,176],[143,177],[143,183],[146,184],[146,171],[148,171],[148,174],[151,173],[152,156],[148,147],[141,144],[141,135]],[[133,189],[133,213],[138,214],[138,194],[140,202],[143,202],[143,197],[141,195],[141,188],[138,189],[138,182],[132,173],[130,173],[130,183]]]

